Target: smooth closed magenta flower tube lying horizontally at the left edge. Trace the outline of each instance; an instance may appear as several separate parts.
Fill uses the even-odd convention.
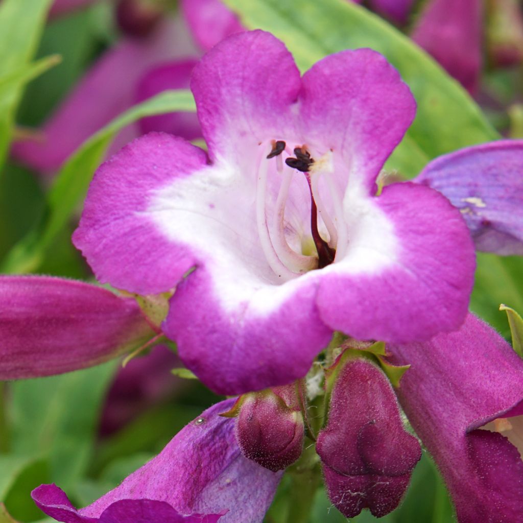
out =
[[[133,299],[79,281],[2,276],[0,297],[2,380],[98,365],[155,334]]]

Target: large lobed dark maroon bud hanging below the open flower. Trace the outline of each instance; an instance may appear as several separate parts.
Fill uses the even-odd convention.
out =
[[[347,351],[331,376],[328,423],[316,444],[328,496],[348,518],[363,508],[384,516],[401,501],[421,457],[419,443],[404,430],[392,386],[377,365]]]

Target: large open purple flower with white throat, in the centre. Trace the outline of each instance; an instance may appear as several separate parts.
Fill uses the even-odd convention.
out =
[[[334,331],[399,343],[459,327],[474,270],[459,211],[412,183],[376,196],[415,111],[380,54],[301,78],[277,39],[238,33],[191,87],[209,153],[135,140],[98,169],[73,241],[101,282],[176,288],[163,330],[204,383],[289,383]]]

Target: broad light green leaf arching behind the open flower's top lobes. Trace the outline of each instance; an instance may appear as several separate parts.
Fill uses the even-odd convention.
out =
[[[431,158],[499,138],[461,85],[412,40],[367,9],[346,0],[225,3],[246,27],[265,29],[283,40],[302,71],[343,49],[370,47],[386,56],[411,87],[418,106],[416,120],[389,168],[414,176]]]

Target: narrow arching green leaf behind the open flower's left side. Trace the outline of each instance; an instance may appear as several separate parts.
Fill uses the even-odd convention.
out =
[[[47,197],[40,222],[7,255],[2,272],[31,272],[42,264],[46,250],[67,225],[84,199],[90,180],[115,134],[140,118],[173,111],[194,111],[188,90],[166,91],[124,112],[89,138],[66,162]]]

